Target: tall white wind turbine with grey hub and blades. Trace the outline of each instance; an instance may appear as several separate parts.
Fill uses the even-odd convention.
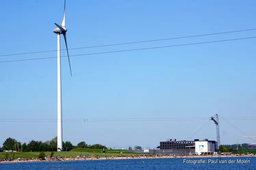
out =
[[[53,30],[54,33],[57,34],[57,39],[58,39],[58,57],[57,57],[57,63],[58,63],[58,120],[57,120],[57,151],[63,151],[62,148],[62,104],[61,104],[61,68],[60,68],[60,34],[64,36],[65,39],[65,44],[67,48],[67,53],[68,53],[68,59],[69,59],[69,52],[68,52],[68,46],[67,46],[67,38],[66,38],[66,32],[68,31],[67,28],[65,27],[65,6],[66,6],[66,0],[64,1],[64,15],[61,21],[60,26],[54,22],[54,24],[57,26],[56,29]],[[70,62],[69,62],[69,68],[70,68],[70,74],[72,77],[71,73],[71,67],[70,67]]]

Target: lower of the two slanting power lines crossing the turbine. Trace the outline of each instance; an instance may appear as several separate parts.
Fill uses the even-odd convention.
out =
[[[82,55],[94,55],[94,54],[116,53],[116,52],[125,52],[125,51],[148,50],[148,49],[167,48],[167,47],[188,46],[188,45],[196,45],[196,44],[217,43],[217,42],[223,42],[223,41],[233,41],[233,40],[250,39],[250,38],[256,38],[256,37],[226,39],[226,40],[208,41],[208,42],[202,42],[202,43],[192,43],[192,44],[182,44],[182,45],[162,46],[162,47],[151,47],[151,48],[141,48],[141,49],[131,49],[131,50],[121,50],[121,51],[108,51],[108,52],[100,52],[100,53],[77,54],[77,55],[70,55],[70,57],[71,57],[71,56],[82,56]],[[61,57],[67,57],[67,56],[61,56]],[[2,62],[0,62],[0,63],[19,62],[19,61],[29,61],[29,60],[43,60],[43,59],[49,59],[49,58],[57,58],[57,57],[31,58],[31,59],[24,59],[24,60],[11,60],[11,61],[2,61]]]

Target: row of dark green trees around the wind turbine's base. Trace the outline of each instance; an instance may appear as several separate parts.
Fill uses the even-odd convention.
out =
[[[87,143],[79,142],[77,146],[72,145],[70,141],[62,141],[63,150],[65,151],[66,148],[68,151],[74,148],[91,148],[91,149],[103,149],[106,147],[100,144],[95,145],[87,145]],[[47,140],[45,142],[42,141],[35,141],[31,140],[29,143],[21,143],[18,142],[16,139],[8,138],[4,141],[3,147],[0,148],[2,150],[16,150],[16,151],[23,151],[23,152],[41,152],[41,151],[57,151],[57,137],[53,138],[52,140]]]

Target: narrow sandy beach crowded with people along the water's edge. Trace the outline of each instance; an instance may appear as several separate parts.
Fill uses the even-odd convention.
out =
[[[226,155],[226,156],[221,156],[222,158],[223,157],[237,157],[237,158],[241,158],[241,157],[256,157],[256,156],[252,156],[252,155],[243,155],[243,156],[230,156],[230,155]],[[75,158],[75,159],[72,159],[72,158],[66,158],[66,160],[31,160],[31,161],[19,161],[18,159],[14,159],[13,161],[11,162],[0,162],[0,164],[28,164],[28,163],[46,163],[46,162],[73,162],[73,161],[89,161],[89,160],[123,160],[123,159],[173,159],[173,158],[187,158],[187,159],[193,159],[193,158],[217,158],[217,156],[183,156],[183,157],[173,157],[173,156],[162,156],[162,157],[131,157],[131,156],[128,156],[128,157],[114,157],[114,158],[111,158],[111,157],[101,157],[101,158],[87,158],[87,159],[84,159],[84,158]]]

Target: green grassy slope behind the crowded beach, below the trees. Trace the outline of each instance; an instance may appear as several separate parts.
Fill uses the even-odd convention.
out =
[[[80,156],[81,155],[81,151],[82,151],[82,156],[89,156],[89,154],[94,154],[95,156],[107,156],[107,157],[111,157],[113,156],[118,156],[119,155],[119,150],[108,150],[106,149],[105,151],[105,155],[103,155],[103,153],[101,153],[101,151],[103,151],[102,149],[88,149],[88,148],[75,148],[71,151],[68,152],[54,152],[54,157],[61,155],[62,157],[76,157],[76,156]],[[120,150],[120,154],[122,155],[139,155],[138,153],[128,153],[125,152],[125,150]],[[5,154],[8,153],[8,158],[11,157],[11,153],[12,153],[12,157],[13,154],[15,155],[14,158],[38,158],[38,155],[40,152],[0,152],[0,158],[5,158]],[[45,155],[47,156],[47,154],[51,155],[51,152],[44,152]]]

